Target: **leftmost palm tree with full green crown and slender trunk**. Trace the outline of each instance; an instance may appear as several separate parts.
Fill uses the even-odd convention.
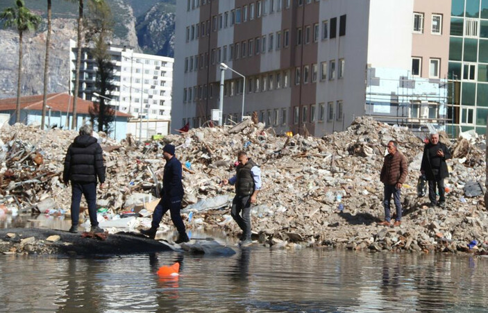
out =
[[[16,0],[15,7],[6,8],[0,13],[0,20],[3,21],[5,28],[15,28],[19,32],[19,73],[17,76],[17,105],[15,108],[15,122],[20,121],[20,83],[22,76],[22,37],[25,31],[34,31],[37,29],[42,19],[39,15],[31,13],[26,8],[24,0]]]

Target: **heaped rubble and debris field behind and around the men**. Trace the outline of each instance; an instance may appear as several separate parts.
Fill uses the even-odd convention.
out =
[[[69,213],[71,189],[60,177],[65,151],[76,135],[20,124],[3,126],[0,205],[8,211]],[[260,242],[269,246],[455,252],[468,251],[471,244],[471,251],[488,250],[484,138],[466,135],[450,142],[441,136],[453,154],[448,160],[447,206],[428,208],[428,197],[418,198],[416,187],[423,138],[367,117],[323,138],[277,136],[251,121],[233,128],[194,128],[144,146],[137,146],[131,137],[121,143],[101,137],[108,188],[99,191],[98,205],[112,223],[106,228],[129,221],[120,218],[154,201],[149,194],[155,195],[155,180],[162,178],[162,146],[172,143],[185,169],[183,212],[190,229],[219,228],[239,234],[229,212],[233,187],[219,183],[233,176],[237,151],[244,150],[262,169],[263,187],[252,223]],[[379,173],[391,139],[410,162],[402,192],[403,223],[396,228],[376,225],[384,217]],[[124,226],[149,226],[147,214],[143,210],[145,217],[132,217]],[[171,225],[169,216],[163,223]]]

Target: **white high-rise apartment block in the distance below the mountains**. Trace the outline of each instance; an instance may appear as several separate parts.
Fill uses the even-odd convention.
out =
[[[71,92],[74,91],[76,42],[70,41]],[[93,92],[96,62],[90,49],[82,50],[78,96],[95,101]],[[167,134],[171,120],[171,90],[174,59],[135,53],[133,49],[109,46],[108,53],[114,65],[110,105],[135,117],[129,121],[127,133],[146,139],[157,133]],[[141,119],[143,120],[140,123]],[[142,126],[142,127],[141,127]]]

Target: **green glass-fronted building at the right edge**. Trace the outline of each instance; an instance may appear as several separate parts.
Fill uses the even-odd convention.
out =
[[[450,1],[451,2],[451,1]],[[488,0],[452,0],[448,130],[486,133],[488,115]]]

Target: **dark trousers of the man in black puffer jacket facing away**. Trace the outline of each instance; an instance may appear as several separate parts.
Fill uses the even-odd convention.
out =
[[[82,194],[88,204],[90,223],[92,223],[92,227],[98,226],[99,222],[96,221],[96,183],[75,182],[71,182],[71,225],[78,225]]]

